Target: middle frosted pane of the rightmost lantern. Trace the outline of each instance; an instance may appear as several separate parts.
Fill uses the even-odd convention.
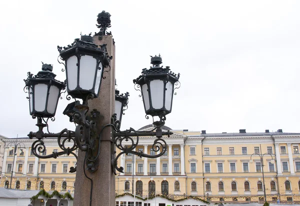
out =
[[[152,107],[159,109],[163,107],[163,81],[155,79],[150,81]]]

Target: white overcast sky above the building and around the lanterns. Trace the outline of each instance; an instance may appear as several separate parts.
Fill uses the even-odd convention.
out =
[[[300,132],[300,1],[298,0],[10,0],[0,2],[0,134],[36,131],[23,93],[26,72],[57,62],[57,45],[94,33],[111,14],[116,79],[130,93],[122,128],[151,123],[132,79],[160,53],[180,72],[166,125],[206,132]],[[73,129],[60,100],[50,131]]]

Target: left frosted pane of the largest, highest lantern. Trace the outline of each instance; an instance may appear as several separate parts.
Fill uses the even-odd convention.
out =
[[[66,61],[67,87],[73,90],[77,86],[77,56],[71,56]]]

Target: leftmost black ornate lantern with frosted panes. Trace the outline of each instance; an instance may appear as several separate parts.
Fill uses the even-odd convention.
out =
[[[51,64],[43,63],[41,69],[35,76],[28,72],[27,79],[24,79],[29,92],[29,111],[33,116],[53,117],[65,83],[54,78],[56,75],[52,73]]]

